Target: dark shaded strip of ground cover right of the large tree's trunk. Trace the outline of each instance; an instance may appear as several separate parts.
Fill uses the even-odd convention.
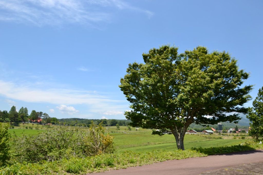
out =
[[[222,146],[222,147],[210,147],[210,148],[191,148],[191,150],[198,151],[200,153],[204,153],[206,155],[217,155],[217,154],[250,154],[254,152],[262,152],[257,151],[252,145],[232,145],[232,146]],[[245,152],[246,151],[246,152]]]

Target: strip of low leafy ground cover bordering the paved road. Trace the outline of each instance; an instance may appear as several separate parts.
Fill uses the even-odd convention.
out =
[[[120,169],[133,166],[142,166],[156,162],[163,162],[173,159],[185,159],[191,157],[204,157],[222,153],[232,153],[239,151],[262,149],[262,145],[252,141],[246,141],[242,145],[210,148],[192,148],[182,151],[160,151],[135,153],[125,151],[120,154],[100,154],[97,156],[79,158],[70,157],[54,162],[43,161],[41,163],[15,163],[11,166],[0,169],[1,175],[13,174],[86,174],[91,172],[109,171],[110,169]]]

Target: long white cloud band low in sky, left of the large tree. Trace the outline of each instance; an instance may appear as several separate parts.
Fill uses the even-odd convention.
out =
[[[98,92],[75,89],[42,89],[34,83],[30,86],[0,80],[0,95],[25,102],[41,102],[55,105],[87,105],[90,112],[102,114],[103,111],[124,111],[125,100],[115,100],[112,96],[99,95]],[[11,101],[12,101],[11,100]],[[61,106],[60,106],[61,107]],[[58,108],[60,109],[60,108]],[[109,113],[110,114],[110,113]],[[112,113],[113,114],[113,113]]]

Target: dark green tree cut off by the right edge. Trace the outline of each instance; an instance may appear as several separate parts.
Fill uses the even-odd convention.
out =
[[[263,138],[263,87],[259,89],[253,107],[249,109],[247,118],[250,120],[249,134],[257,140]]]

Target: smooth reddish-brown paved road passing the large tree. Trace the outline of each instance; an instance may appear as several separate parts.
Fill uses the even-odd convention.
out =
[[[127,169],[96,173],[96,175],[194,175],[211,170],[255,162],[263,162],[263,150],[171,160],[141,167],[131,167]]]

